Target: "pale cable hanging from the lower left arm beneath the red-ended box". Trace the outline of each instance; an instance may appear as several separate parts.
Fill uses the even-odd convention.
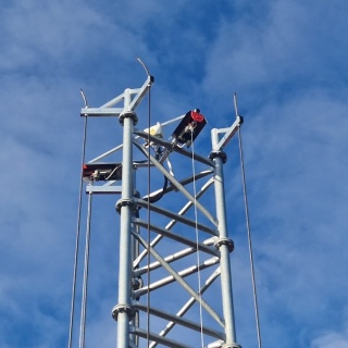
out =
[[[79,326],[79,348],[85,347],[85,328],[87,316],[87,289],[88,289],[88,266],[89,266],[89,240],[90,240],[90,220],[91,220],[91,198],[92,192],[88,195],[88,211],[87,211],[87,229],[85,241],[85,264],[84,264],[84,282],[83,282],[83,299],[80,312],[80,326]]]

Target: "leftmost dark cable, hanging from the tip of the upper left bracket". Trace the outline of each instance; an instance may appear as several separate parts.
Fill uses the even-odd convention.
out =
[[[73,290],[72,290],[72,303],[70,312],[70,327],[69,327],[69,343],[67,347],[72,347],[73,331],[74,331],[74,315],[75,315],[75,297],[76,297],[76,276],[77,276],[77,263],[78,263],[78,250],[79,250],[79,234],[80,234],[80,214],[82,214],[82,201],[83,201],[83,166],[85,163],[86,153],[86,136],[87,136],[87,116],[85,116],[84,125],[84,139],[83,139],[83,156],[80,165],[80,182],[79,182],[79,195],[78,195],[78,209],[77,209],[77,227],[76,227],[76,240],[75,240],[75,258],[74,258],[74,274],[73,274]]]

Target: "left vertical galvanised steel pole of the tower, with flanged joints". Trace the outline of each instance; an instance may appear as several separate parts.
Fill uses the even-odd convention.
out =
[[[117,320],[117,348],[129,347],[129,322],[134,316],[132,308],[132,215],[134,212],[133,184],[133,127],[136,114],[129,110],[130,90],[124,92],[124,112],[120,115],[123,124],[122,197],[116,207],[121,213],[119,304],[113,311]]]

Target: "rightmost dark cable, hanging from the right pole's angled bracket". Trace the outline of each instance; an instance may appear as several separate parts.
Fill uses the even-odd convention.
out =
[[[251,279],[252,279],[253,306],[254,306],[254,315],[256,315],[256,324],[257,324],[258,344],[259,344],[259,348],[261,348],[261,330],[260,330],[260,319],[259,319],[259,306],[258,306],[258,295],[257,295],[257,286],[256,286],[256,279],[254,279],[254,268],[253,268],[252,244],[251,244],[251,232],[250,232],[250,219],[249,219],[247,184],[246,184],[246,174],[245,174],[245,166],[244,166],[244,154],[243,154],[243,144],[241,144],[240,127],[238,127],[238,142],[239,142],[239,157],[240,157],[244,203],[245,203],[247,234],[248,234],[248,247],[249,247]]]

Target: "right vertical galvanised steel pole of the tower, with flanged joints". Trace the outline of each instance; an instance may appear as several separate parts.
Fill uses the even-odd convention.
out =
[[[222,306],[225,319],[225,334],[226,343],[224,347],[239,347],[236,344],[236,328],[235,315],[232,294],[232,275],[229,252],[233,250],[233,241],[228,239],[227,222],[226,222],[226,208],[225,208],[225,191],[224,191],[224,174],[223,164],[226,161],[226,154],[223,151],[216,150],[219,144],[217,133],[212,129],[212,148],[213,151],[210,158],[214,161],[214,187],[215,187],[215,204],[219,239],[215,246],[220,250],[221,259],[221,289],[222,289]]]

